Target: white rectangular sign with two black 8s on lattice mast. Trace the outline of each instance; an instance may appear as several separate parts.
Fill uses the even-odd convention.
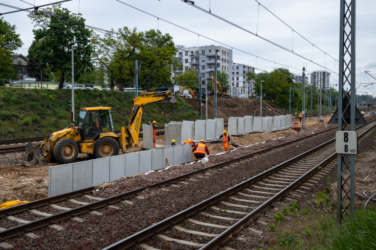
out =
[[[355,131],[337,131],[336,153],[347,155],[358,154],[358,133]]]

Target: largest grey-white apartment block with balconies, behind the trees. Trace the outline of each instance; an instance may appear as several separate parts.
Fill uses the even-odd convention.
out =
[[[215,70],[215,55],[217,56],[217,72],[223,71],[229,75],[231,85],[232,50],[223,46],[198,46],[185,47],[175,45],[178,52],[175,58],[178,59],[180,67],[172,72],[172,78],[182,74],[188,68],[194,69],[201,77],[202,84],[205,80],[211,82],[211,76]]]

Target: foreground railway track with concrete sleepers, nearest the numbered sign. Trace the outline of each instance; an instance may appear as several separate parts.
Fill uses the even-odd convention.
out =
[[[372,121],[371,126],[359,128],[359,137],[375,126],[376,122]],[[237,238],[239,231],[249,229],[262,211],[290,191],[298,187],[312,188],[337,165],[336,156],[334,138],[104,249],[135,246],[163,249],[166,243],[174,249],[233,249],[226,245],[229,239]],[[249,160],[241,160],[236,165],[241,164],[249,164]],[[231,167],[236,166],[232,164]]]

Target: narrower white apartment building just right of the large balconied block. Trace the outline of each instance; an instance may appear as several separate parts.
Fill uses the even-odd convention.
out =
[[[248,71],[255,72],[255,68],[247,64],[232,64],[231,96],[249,98],[254,95],[254,81],[247,80],[246,73]]]

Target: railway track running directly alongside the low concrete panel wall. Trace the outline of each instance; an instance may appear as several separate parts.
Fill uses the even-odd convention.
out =
[[[323,132],[324,133],[324,132]],[[321,134],[321,133],[320,133]],[[84,213],[92,212],[93,215],[97,214],[96,210],[99,208],[112,208],[117,209],[117,206],[114,206],[116,203],[127,203],[127,199],[130,197],[137,196],[138,193],[147,189],[147,188],[156,188],[156,187],[163,187],[172,185],[174,183],[182,182],[194,176],[195,174],[200,174],[208,171],[209,169],[217,169],[217,168],[226,168],[235,167],[239,163],[242,162],[249,162],[253,157],[267,157],[270,154],[273,154],[276,151],[282,150],[290,150],[289,148],[294,148],[295,144],[299,141],[309,140],[312,137],[319,135],[319,133],[315,135],[311,135],[307,138],[297,139],[288,143],[281,144],[279,148],[267,148],[263,149],[260,152],[256,152],[253,154],[249,154],[246,156],[242,156],[237,159],[229,160],[224,163],[216,164],[213,166],[209,166],[207,168],[203,168],[191,173],[184,174],[183,176],[178,176],[175,178],[171,178],[159,183],[155,183],[152,185],[148,185],[142,188],[138,188],[136,190],[132,190],[126,193],[122,193],[113,197],[102,198],[98,199],[98,197],[93,197],[90,194],[93,191],[93,187],[78,190],[75,192],[54,196],[50,198],[40,199],[38,201],[30,202],[28,204],[19,205],[16,207],[11,207],[8,209],[0,210],[0,224],[2,225],[13,225],[8,226],[6,229],[0,229],[0,241],[4,241],[11,237],[24,234],[30,235],[29,237],[35,237],[33,234],[29,234],[32,230],[36,230],[42,227],[50,226],[51,228],[58,228],[57,222],[64,220],[64,219],[74,219],[79,220],[77,216],[82,215]],[[294,176],[294,175],[293,175]],[[258,176],[260,178],[260,176]],[[279,182],[279,181],[278,181]],[[257,190],[256,190],[257,191]],[[70,204],[70,205],[68,205]],[[56,214],[49,214],[43,211],[46,211],[45,207],[51,207],[52,205],[56,210],[60,210],[62,212]],[[230,210],[231,211],[231,210]],[[40,213],[41,212],[41,213]],[[27,214],[23,214],[27,213]],[[28,216],[38,216],[38,220],[30,221]],[[33,217],[31,216],[31,217]],[[40,218],[42,217],[42,218]],[[21,220],[19,218],[22,218]],[[10,223],[8,223],[11,221]],[[21,223],[21,224],[20,224]],[[161,231],[159,231],[161,232]],[[137,243],[137,242],[136,242]]]

